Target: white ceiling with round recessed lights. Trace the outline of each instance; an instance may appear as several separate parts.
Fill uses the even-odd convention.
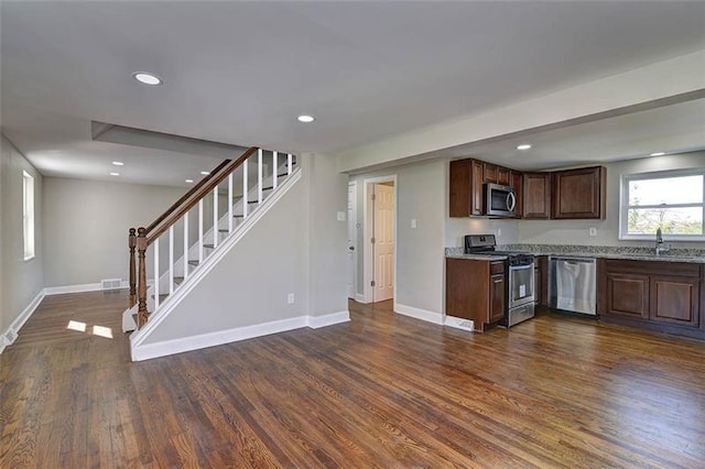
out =
[[[213,156],[90,140],[90,121],[335,153],[705,50],[705,2],[2,1],[2,130],[45,175],[181,184]],[[164,78],[139,85],[135,70]],[[702,101],[465,145],[518,168],[705,146]],[[312,124],[296,121],[311,113]],[[676,126],[677,123],[677,126]],[[647,130],[648,129],[648,130]],[[675,133],[695,134],[677,140]],[[669,140],[670,139],[670,140]],[[671,143],[669,143],[671,142]],[[468,142],[471,143],[471,142]],[[670,146],[668,146],[670,145]],[[676,146],[674,146],[676,145]],[[516,163],[516,164],[514,164]]]

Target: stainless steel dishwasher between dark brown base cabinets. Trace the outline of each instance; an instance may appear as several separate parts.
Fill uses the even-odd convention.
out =
[[[549,306],[596,315],[595,259],[571,255],[551,255],[549,259]]]

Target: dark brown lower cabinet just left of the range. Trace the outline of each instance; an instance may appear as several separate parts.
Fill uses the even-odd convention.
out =
[[[446,315],[473,320],[476,330],[505,318],[503,261],[446,259],[445,282]]]

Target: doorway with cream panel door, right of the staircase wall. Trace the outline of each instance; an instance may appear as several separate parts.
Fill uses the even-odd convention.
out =
[[[365,297],[377,303],[397,288],[397,176],[365,181]]]

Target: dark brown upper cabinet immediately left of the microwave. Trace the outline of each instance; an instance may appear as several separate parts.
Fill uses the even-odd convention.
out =
[[[482,215],[482,162],[457,160],[451,162],[451,217]]]

